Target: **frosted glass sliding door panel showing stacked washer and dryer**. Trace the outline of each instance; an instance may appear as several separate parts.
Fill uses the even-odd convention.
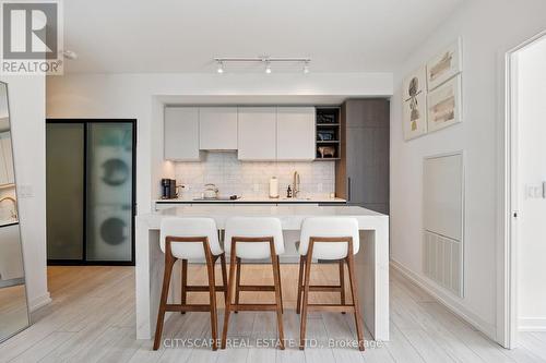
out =
[[[132,123],[88,123],[87,261],[131,261],[132,176]]]

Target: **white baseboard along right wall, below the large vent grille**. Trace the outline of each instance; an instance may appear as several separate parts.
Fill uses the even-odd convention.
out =
[[[485,334],[491,340],[497,341],[497,329],[495,325],[489,324],[478,317],[476,314],[467,310],[463,304],[461,304],[461,299],[452,295],[440,287],[435,286],[432,281],[429,281],[426,277],[419,276],[414,271],[406,268],[401,263],[391,259],[391,266],[395,268],[399,273],[404,275],[412,282],[427,291],[432,298],[438,300],[439,303],[448,307],[455,315],[461,317],[463,320]]]

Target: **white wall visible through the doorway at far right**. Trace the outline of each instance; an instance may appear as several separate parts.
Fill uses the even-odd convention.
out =
[[[519,328],[546,330],[546,37],[517,53],[517,69]]]

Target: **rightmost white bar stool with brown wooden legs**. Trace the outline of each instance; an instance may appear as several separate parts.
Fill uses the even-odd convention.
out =
[[[298,245],[299,277],[297,313],[301,308],[301,325],[299,349],[305,348],[306,323],[308,312],[349,312],[355,314],[358,349],[364,350],[363,322],[358,306],[357,281],[353,255],[359,250],[358,221],[345,217],[313,217],[307,218],[301,225],[301,238]],[[352,253],[347,253],[351,251]],[[323,286],[310,285],[312,258],[339,261],[340,285]],[[345,303],[344,264],[347,264],[351,280],[353,304]],[[341,293],[341,304],[309,304],[309,292],[330,291]],[[301,297],[302,294],[302,297]]]

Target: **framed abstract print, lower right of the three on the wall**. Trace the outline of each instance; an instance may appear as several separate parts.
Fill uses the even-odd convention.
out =
[[[461,75],[428,93],[428,131],[461,122]]]

